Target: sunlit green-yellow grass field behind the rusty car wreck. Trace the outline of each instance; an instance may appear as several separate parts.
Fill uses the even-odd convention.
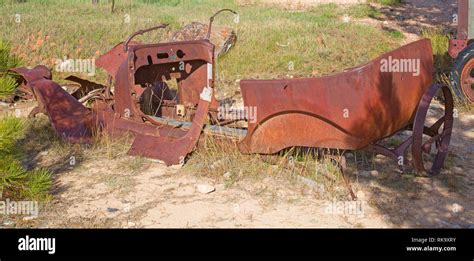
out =
[[[98,6],[88,1],[62,0],[7,4],[0,15],[11,19],[0,21],[4,28],[0,38],[11,41],[14,53],[28,66],[45,64],[52,68],[56,60],[65,56],[97,58],[132,32],[162,22],[170,23],[169,28],[137,39],[166,41],[182,26],[192,21],[207,23],[215,11],[232,8],[240,14],[239,24],[233,22],[231,14],[216,19],[216,25],[231,26],[238,35],[235,47],[218,60],[218,90],[224,92],[235,91],[236,80],[243,78],[309,77],[342,71],[400,43],[388,32],[342,21],[344,14],[354,17],[374,14],[367,5],[343,8],[330,4],[288,12],[275,6],[239,6],[234,1],[223,0],[129,3],[117,1],[114,13],[105,1]],[[15,22],[14,14],[20,15],[20,23]],[[125,22],[126,17],[130,23]],[[367,42],[377,44],[367,45]],[[286,44],[287,47],[280,46]],[[290,62],[294,70],[289,70]],[[69,73],[53,75],[61,82]],[[87,78],[87,75],[79,76]],[[105,72],[98,70],[92,80],[105,82]]]

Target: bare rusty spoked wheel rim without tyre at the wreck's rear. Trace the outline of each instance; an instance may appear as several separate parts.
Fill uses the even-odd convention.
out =
[[[445,108],[444,115],[434,124],[425,126],[426,115],[436,91],[442,89]],[[430,89],[423,95],[416,112],[413,123],[413,144],[412,158],[413,165],[418,171],[426,171],[429,175],[436,175],[440,172],[441,167],[448,156],[449,141],[453,128],[453,97],[451,91],[446,86],[432,85]],[[441,130],[441,131],[440,131]],[[423,135],[428,136],[427,140],[423,140]],[[434,145],[434,146],[433,146]],[[436,156],[430,169],[425,168],[425,160],[423,155],[431,154],[432,148],[435,148]]]

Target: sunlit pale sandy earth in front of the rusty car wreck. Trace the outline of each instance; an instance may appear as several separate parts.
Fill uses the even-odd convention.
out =
[[[41,217],[39,226],[389,226],[365,200],[356,206],[361,211],[331,210],[328,201],[318,199],[318,191],[278,176],[226,187],[222,180],[182,174],[150,161],[145,170],[133,174],[104,166],[113,163],[89,162],[80,171],[61,174],[55,206]],[[204,193],[202,185],[214,191]]]

